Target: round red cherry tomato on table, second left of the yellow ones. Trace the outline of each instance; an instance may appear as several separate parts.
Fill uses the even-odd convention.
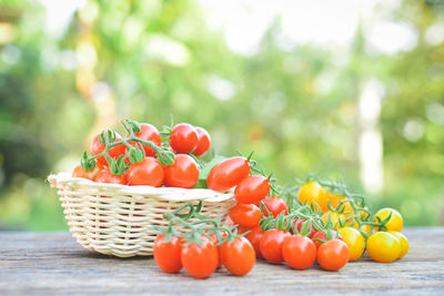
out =
[[[300,234],[293,234],[282,244],[282,255],[294,269],[306,269],[316,259],[317,249],[313,241]]]

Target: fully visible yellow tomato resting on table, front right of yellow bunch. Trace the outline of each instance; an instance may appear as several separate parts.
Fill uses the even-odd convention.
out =
[[[372,259],[389,263],[398,258],[401,244],[393,234],[377,232],[369,237],[366,248],[369,256],[372,257]]]

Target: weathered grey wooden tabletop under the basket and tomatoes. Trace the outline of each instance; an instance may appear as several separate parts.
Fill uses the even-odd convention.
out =
[[[259,261],[244,277],[223,268],[195,280],[161,273],[151,257],[115,258],[83,249],[69,233],[0,233],[6,294],[434,294],[444,295],[444,227],[408,228],[411,252],[392,264],[364,256],[342,271],[290,269]]]

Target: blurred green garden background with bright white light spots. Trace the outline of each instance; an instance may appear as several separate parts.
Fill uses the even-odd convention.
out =
[[[443,224],[443,1],[0,1],[0,228],[65,229],[48,174],[171,115]]]

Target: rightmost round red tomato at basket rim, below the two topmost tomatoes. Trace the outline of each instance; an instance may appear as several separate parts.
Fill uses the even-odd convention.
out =
[[[199,167],[188,154],[175,155],[174,163],[163,167],[167,187],[192,188],[199,181]]]

